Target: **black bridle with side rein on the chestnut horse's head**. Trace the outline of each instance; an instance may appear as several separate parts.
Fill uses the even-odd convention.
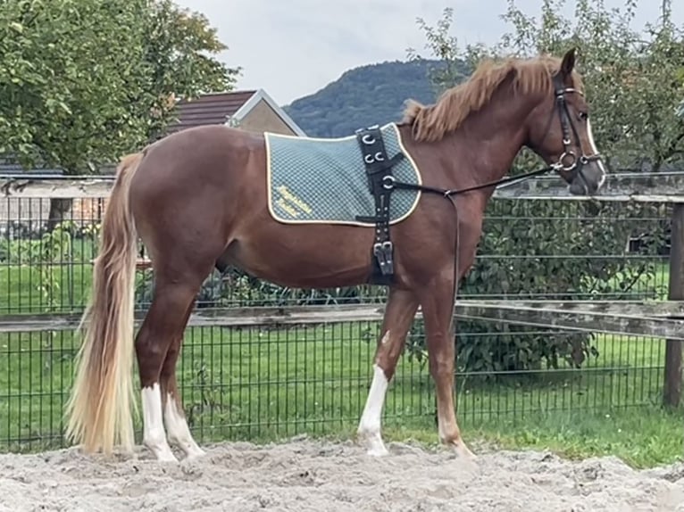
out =
[[[571,172],[572,177],[571,181],[574,181],[576,178],[580,178],[584,182],[584,186],[588,186],[587,183],[587,178],[584,176],[584,173],[582,172],[584,170],[584,166],[587,165],[590,161],[598,161],[601,160],[601,155],[600,153],[594,153],[594,154],[587,154],[584,151],[584,147],[582,146],[582,141],[580,139],[580,134],[577,131],[577,128],[575,127],[575,124],[572,122],[572,118],[570,115],[570,110],[568,108],[568,103],[565,101],[565,95],[568,94],[577,94],[577,95],[582,95],[584,96],[584,93],[581,91],[575,89],[574,87],[565,87],[565,84],[563,84],[563,78],[559,74],[556,74],[553,78],[553,83],[554,83],[554,94],[555,94],[555,105],[556,105],[556,111],[558,112],[558,117],[560,119],[561,123],[561,130],[563,132],[563,153],[561,156],[558,158],[558,161],[555,161],[548,167],[545,167],[544,169],[537,169],[537,170],[532,170],[530,172],[523,173],[518,176],[512,176],[508,178],[501,178],[497,179],[496,181],[489,181],[488,183],[484,183],[482,185],[476,185],[476,186],[469,186],[467,188],[438,188],[435,186],[426,186],[426,185],[416,185],[413,183],[403,183],[400,181],[396,181],[396,178],[392,176],[391,174],[388,174],[387,176],[384,176],[382,178],[382,186],[386,190],[393,190],[397,188],[402,188],[406,190],[421,190],[422,192],[429,192],[431,194],[440,194],[444,195],[445,197],[451,197],[453,195],[458,195],[458,194],[464,194],[466,192],[471,192],[474,190],[481,190],[483,188],[489,188],[490,186],[500,186],[500,185],[505,185],[507,183],[512,183],[512,182],[519,182],[519,181],[524,181],[528,178],[533,178],[535,176],[541,176],[543,174],[546,174],[547,172],[555,171],[559,174],[562,174],[563,172]],[[548,125],[551,125],[551,121],[554,119],[554,111],[551,112],[551,117],[548,120]],[[575,140],[577,140],[577,145],[580,147],[581,155],[580,158],[577,157],[574,151],[572,151],[571,148],[571,130],[572,134],[575,136]],[[546,134],[548,134],[548,130],[546,130]],[[545,135],[546,137],[546,135]],[[564,161],[570,157],[571,162],[569,164],[565,164]]]

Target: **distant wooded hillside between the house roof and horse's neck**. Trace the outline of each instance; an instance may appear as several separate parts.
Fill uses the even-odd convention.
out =
[[[313,95],[283,107],[308,136],[348,136],[401,119],[405,101],[433,103],[430,70],[438,61],[380,62],[347,70]]]

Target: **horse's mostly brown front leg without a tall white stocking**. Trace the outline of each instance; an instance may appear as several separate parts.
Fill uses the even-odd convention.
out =
[[[442,277],[445,275],[448,273],[440,274]],[[457,456],[475,458],[463,442],[455,415],[455,337],[452,322],[454,300],[453,279],[435,279],[421,293],[430,376],[435,382],[437,394],[439,440],[451,447]]]

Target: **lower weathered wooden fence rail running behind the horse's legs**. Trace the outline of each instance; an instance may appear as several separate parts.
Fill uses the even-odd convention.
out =
[[[381,304],[286,306],[195,310],[188,326],[294,326],[381,320]],[[416,318],[421,318],[418,310]],[[574,331],[654,336],[684,341],[684,301],[456,301],[455,318],[508,322]],[[136,321],[142,320],[138,312]],[[0,333],[75,329],[75,314],[17,314],[0,317]]]

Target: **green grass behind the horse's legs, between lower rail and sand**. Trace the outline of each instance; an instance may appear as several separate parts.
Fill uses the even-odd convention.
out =
[[[179,382],[196,437],[353,436],[371,380],[375,328],[189,329]],[[0,342],[0,450],[60,446],[71,334],[5,334]],[[681,458],[684,414],[659,406],[663,342],[601,336],[596,344],[601,355],[583,371],[497,382],[459,376],[464,437],[475,446],[549,449],[569,457],[613,454],[637,467]],[[436,441],[432,382],[418,361],[401,360],[385,416],[389,440]],[[139,421],[137,427],[139,440]]]

